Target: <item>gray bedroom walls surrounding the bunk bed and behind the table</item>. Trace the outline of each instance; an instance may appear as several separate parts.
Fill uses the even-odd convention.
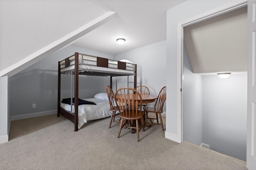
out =
[[[108,59],[127,59],[138,64],[138,85],[144,84],[148,86],[152,95],[157,95],[162,86],[166,85],[166,41],[154,43],[116,56],[68,46],[10,78],[11,116],[56,110],[58,61],[73,55],[75,52]],[[110,84],[109,77],[83,77],[79,79],[79,98],[92,98],[98,92],[106,92],[106,85]],[[70,76],[62,75],[61,81],[61,99],[70,98]],[[115,81],[119,82],[118,88],[127,86],[127,76],[113,78],[114,86],[116,85]],[[32,108],[32,104],[36,104],[36,108]]]

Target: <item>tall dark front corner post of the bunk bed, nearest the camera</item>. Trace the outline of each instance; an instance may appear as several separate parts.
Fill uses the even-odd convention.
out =
[[[78,131],[78,53],[75,53],[75,131]]]

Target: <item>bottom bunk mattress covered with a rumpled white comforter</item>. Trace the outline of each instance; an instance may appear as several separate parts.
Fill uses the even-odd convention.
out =
[[[87,121],[102,119],[111,116],[112,111],[109,110],[110,106],[108,100],[99,98],[88,98],[83,100],[86,100],[88,102],[94,102],[96,105],[82,104],[78,106],[78,128],[81,128],[82,125]],[[66,111],[71,111],[70,104],[60,103],[60,107],[62,107]],[[74,113],[74,106],[72,107],[72,109],[72,112]]]

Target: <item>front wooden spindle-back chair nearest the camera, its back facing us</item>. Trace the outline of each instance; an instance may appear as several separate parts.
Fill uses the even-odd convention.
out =
[[[118,137],[120,137],[120,132],[123,127],[136,129],[137,133],[137,141],[140,141],[139,132],[141,128],[143,128],[144,131],[144,121],[143,121],[143,114],[142,111],[142,98],[140,94],[133,88],[120,88],[116,91],[115,94],[115,101],[116,106],[118,106],[118,109],[120,111],[120,117],[121,117],[121,125],[118,132]],[[141,119],[142,126],[139,128],[139,119]],[[134,127],[132,124],[134,124],[134,121],[136,121],[136,127]],[[130,122],[130,125],[129,123]]]

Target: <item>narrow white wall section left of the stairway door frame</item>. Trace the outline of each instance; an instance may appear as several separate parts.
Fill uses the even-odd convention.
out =
[[[202,14],[234,0],[186,0],[185,2],[167,11],[167,74],[166,85],[168,88],[166,99],[166,137],[174,141],[180,141],[178,137],[178,87],[177,72],[177,23],[193,16]],[[179,132],[180,133],[180,132]]]

